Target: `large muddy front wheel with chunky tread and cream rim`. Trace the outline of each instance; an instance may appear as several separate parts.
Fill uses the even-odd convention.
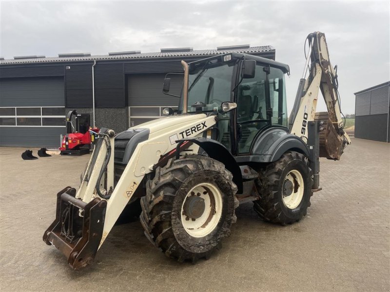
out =
[[[208,258],[236,221],[237,187],[224,164],[201,155],[158,167],[141,198],[145,235],[182,262]]]

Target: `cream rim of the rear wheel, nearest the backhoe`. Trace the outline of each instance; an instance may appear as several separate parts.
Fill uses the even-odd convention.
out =
[[[298,170],[291,170],[283,183],[283,203],[289,209],[295,209],[302,201],[304,182]]]

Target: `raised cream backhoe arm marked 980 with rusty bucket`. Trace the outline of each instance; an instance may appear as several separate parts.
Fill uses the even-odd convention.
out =
[[[309,53],[290,115],[289,128],[294,135],[307,142],[308,122],[320,120],[320,157],[339,160],[344,147],[351,144],[351,140],[343,129],[337,90],[337,66],[334,69],[331,66],[323,33],[314,32],[307,40]],[[324,97],[327,112],[315,112],[319,90]]]

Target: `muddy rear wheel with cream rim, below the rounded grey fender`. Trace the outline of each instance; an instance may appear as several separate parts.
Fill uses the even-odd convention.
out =
[[[313,194],[308,159],[298,152],[286,152],[259,172],[256,187],[260,199],[254,201],[254,210],[261,219],[282,225],[299,221]]]

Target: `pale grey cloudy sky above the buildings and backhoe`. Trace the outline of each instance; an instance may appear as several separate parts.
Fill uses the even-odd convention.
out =
[[[160,48],[272,45],[290,65],[292,108],[305,63],[303,45],[326,34],[338,65],[342,110],[353,92],[390,80],[389,1],[0,1],[0,55],[159,52]],[[324,110],[320,103],[318,110]]]

